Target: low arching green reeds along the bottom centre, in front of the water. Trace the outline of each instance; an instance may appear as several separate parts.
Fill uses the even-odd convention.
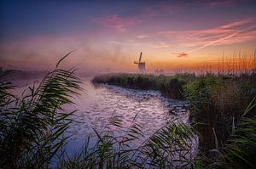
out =
[[[120,118],[112,118],[108,125],[122,127]],[[89,136],[84,148],[75,156],[65,155],[59,168],[172,168],[193,166],[191,145],[195,130],[181,122],[170,122],[146,140],[136,117],[122,136],[111,130],[98,132],[96,143],[90,146]],[[130,144],[137,141],[136,147]]]

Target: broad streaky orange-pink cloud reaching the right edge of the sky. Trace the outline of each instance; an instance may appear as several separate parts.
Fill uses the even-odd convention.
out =
[[[172,39],[183,48],[194,47],[189,51],[189,53],[192,53],[208,46],[255,41],[256,20],[255,18],[250,18],[237,20],[211,29],[162,31],[157,34],[161,37]]]

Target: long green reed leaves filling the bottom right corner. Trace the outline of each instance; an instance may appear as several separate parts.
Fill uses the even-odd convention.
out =
[[[233,125],[230,137],[222,147],[209,150],[210,155],[200,155],[204,168],[255,168],[256,118],[255,97],[247,105],[239,121]],[[253,115],[254,114],[254,115]],[[252,117],[248,117],[251,116]]]

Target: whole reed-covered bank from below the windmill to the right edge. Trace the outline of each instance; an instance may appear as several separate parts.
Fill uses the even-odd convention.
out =
[[[235,166],[255,165],[252,157],[253,151],[256,152],[256,137],[253,136],[255,133],[253,122],[256,115],[255,74],[247,73],[240,76],[112,74],[96,76],[92,82],[143,90],[153,89],[160,91],[167,98],[189,101],[190,119],[200,134],[201,155],[199,156],[203,164],[225,161]],[[251,126],[244,125],[246,119],[249,119]],[[247,130],[252,132],[247,133],[245,138],[243,136]],[[238,133],[236,131],[239,131],[238,141],[237,136],[235,137]],[[226,150],[230,144],[231,149]],[[216,149],[223,156],[213,155],[214,158],[211,159],[212,149]],[[208,158],[211,161],[207,161]],[[219,160],[219,158],[224,159]],[[248,161],[244,161],[245,159]]]

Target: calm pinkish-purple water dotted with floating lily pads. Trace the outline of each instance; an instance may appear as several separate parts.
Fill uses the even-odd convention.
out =
[[[31,82],[16,82],[17,95],[22,93]],[[99,132],[106,127],[111,115],[121,116],[123,127],[112,127],[115,134],[122,135],[131,125],[134,117],[143,127],[146,139],[166,125],[168,121],[183,121],[188,123],[188,104],[184,101],[166,99],[156,91],[125,89],[109,85],[93,85],[90,79],[84,79],[84,91],[75,100],[75,105],[65,107],[77,110],[71,117],[74,121],[65,132],[70,136],[67,142],[67,154],[74,155],[81,149],[85,138],[93,129]],[[93,143],[92,143],[93,144]]]

